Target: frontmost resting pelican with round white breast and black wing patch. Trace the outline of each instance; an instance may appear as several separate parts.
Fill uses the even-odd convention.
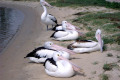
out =
[[[61,52],[55,52],[52,58],[48,58],[45,63],[45,72],[54,77],[72,77],[75,71],[80,70],[78,66],[65,59]]]

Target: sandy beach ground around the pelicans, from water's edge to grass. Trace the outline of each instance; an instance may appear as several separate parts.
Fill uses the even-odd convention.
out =
[[[0,6],[15,8],[23,11],[25,19],[17,34],[13,37],[11,42],[0,55],[0,80],[61,80],[66,78],[55,78],[48,76],[43,64],[29,63],[28,59],[24,59],[27,53],[32,51],[35,47],[42,46],[45,41],[53,41],[49,36],[53,31],[46,31],[46,26],[41,23],[40,16],[43,12],[39,2],[0,2]],[[64,12],[65,11],[65,12]],[[48,12],[56,16],[58,22],[62,20],[69,20],[75,18],[72,14],[77,12],[87,11],[106,11],[115,12],[117,10],[106,9],[104,7],[79,7],[79,8],[49,8]],[[70,20],[69,20],[70,21]],[[64,45],[70,42],[54,43]],[[107,53],[112,53],[113,57],[106,57]],[[117,62],[116,55],[120,56],[119,51],[108,50],[100,53],[100,51],[92,52],[90,54],[76,54],[71,55],[72,62],[79,65],[85,72],[85,75],[76,73],[75,76],[67,78],[67,80],[100,80],[100,74],[104,71],[102,69],[105,63]],[[94,64],[94,63],[98,64]],[[120,65],[119,63],[117,63]],[[109,75],[109,80],[120,80],[120,71],[113,69],[107,71],[105,74]]]

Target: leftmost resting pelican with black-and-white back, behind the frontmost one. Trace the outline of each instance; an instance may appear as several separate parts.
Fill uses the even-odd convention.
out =
[[[45,42],[43,47],[38,47],[28,53],[26,57],[24,58],[29,58],[30,61],[35,62],[35,63],[43,63],[47,58],[51,58],[53,56],[53,53],[56,51],[61,51],[65,58],[69,59],[70,54],[75,54],[73,51],[63,48],[61,46],[53,44],[53,42]]]

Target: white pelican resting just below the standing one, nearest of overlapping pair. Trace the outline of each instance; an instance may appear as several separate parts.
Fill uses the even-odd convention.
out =
[[[70,29],[67,27],[67,21],[62,21],[62,31],[55,31],[50,37],[54,38],[55,40],[75,40],[78,38],[79,33],[76,30],[67,30]]]

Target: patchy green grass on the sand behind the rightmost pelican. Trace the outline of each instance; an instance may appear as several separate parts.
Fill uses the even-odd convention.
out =
[[[84,25],[89,32],[86,33],[85,39],[96,40],[95,32],[99,28],[106,35],[102,37],[104,44],[117,43],[120,45],[120,12],[116,13],[89,13],[84,16],[78,16],[73,19],[74,23]]]

